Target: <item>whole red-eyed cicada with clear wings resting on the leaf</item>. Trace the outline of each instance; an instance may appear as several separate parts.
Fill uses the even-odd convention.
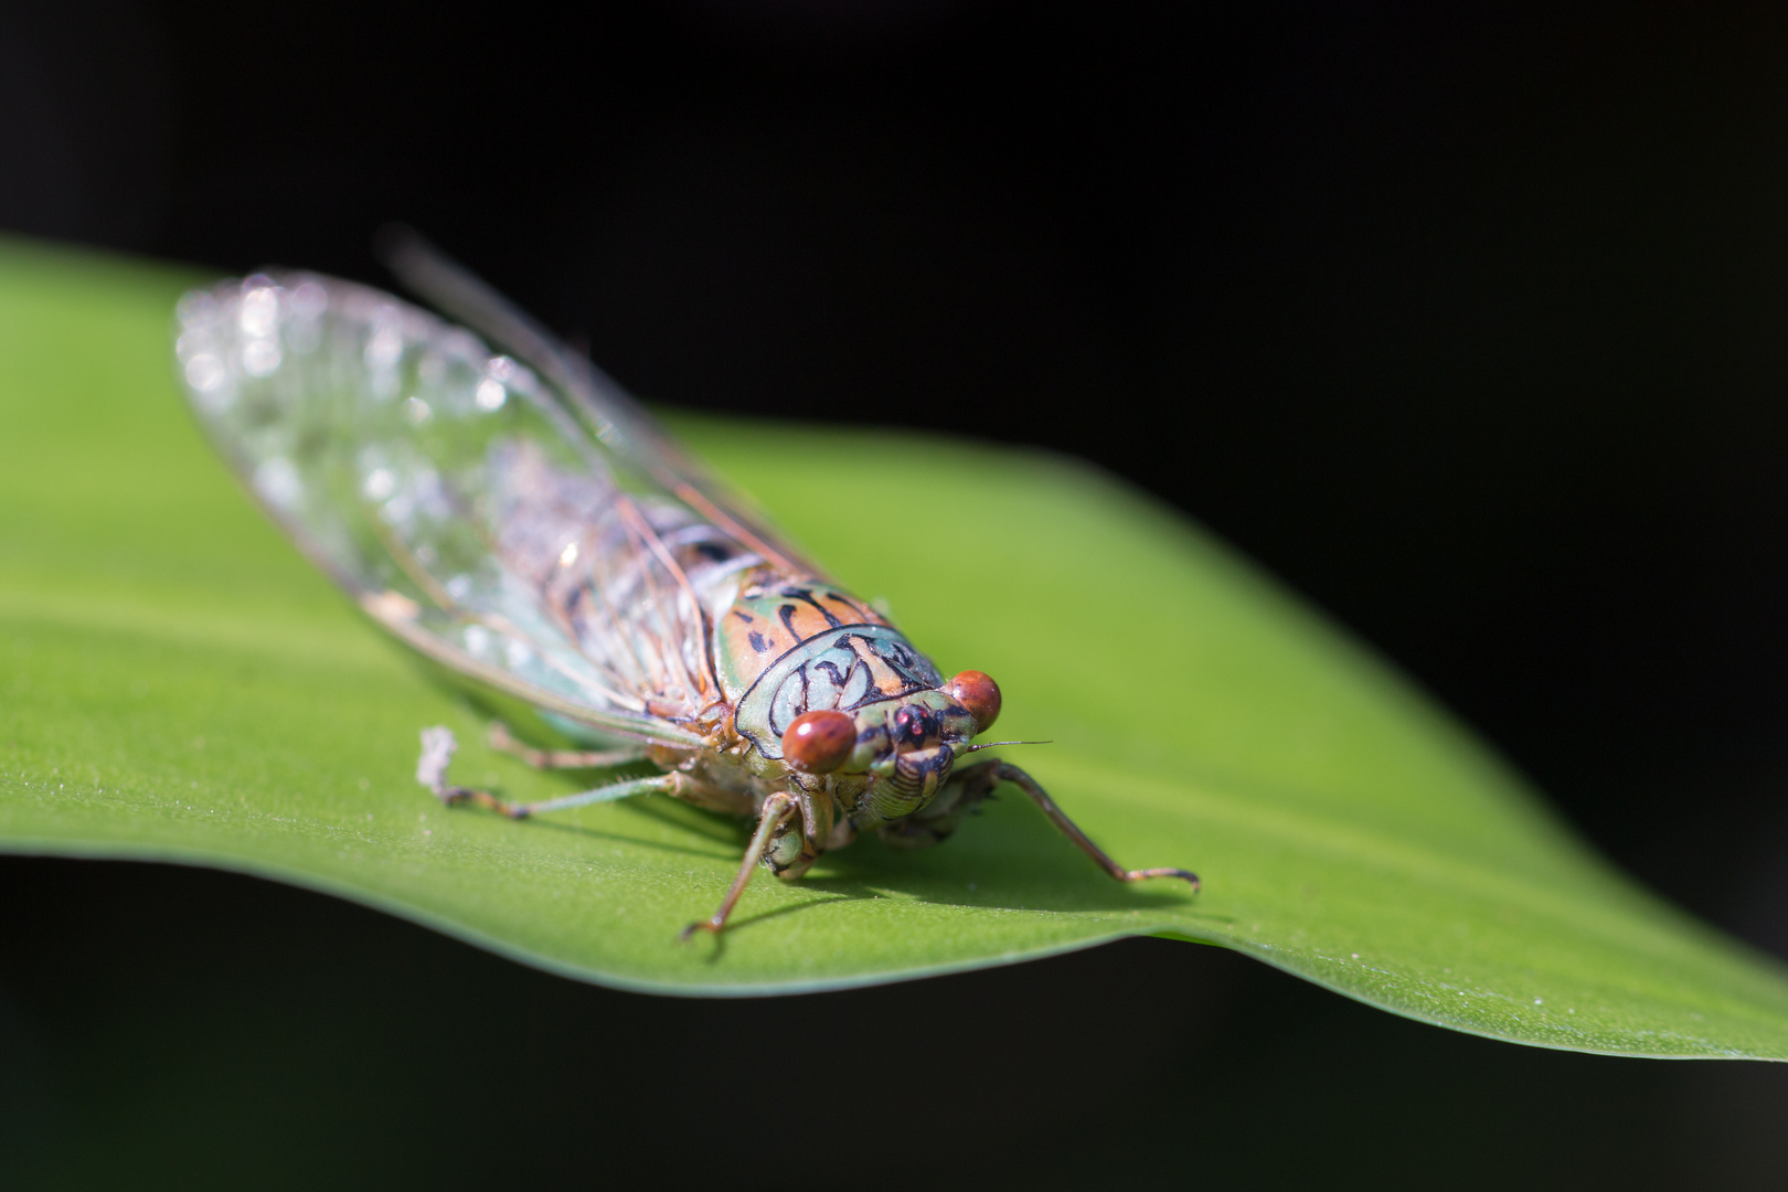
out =
[[[1125,869],[1025,770],[969,760],[999,717],[982,672],[946,679],[730,495],[583,354],[420,239],[388,254],[454,325],[313,273],[186,295],[177,356],[198,422],[291,540],[368,617],[578,749],[492,742],[542,767],[649,761],[544,802],[417,779],[513,818],[665,793],[755,820],[694,931],[724,929],[762,865],[785,881],[867,829],[932,845],[1010,783],[1118,881]],[[839,459],[840,491],[849,459]],[[526,736],[526,733],[524,733]],[[561,742],[563,743],[563,742]]]

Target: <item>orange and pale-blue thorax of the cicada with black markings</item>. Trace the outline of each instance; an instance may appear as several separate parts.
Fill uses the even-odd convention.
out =
[[[806,711],[856,711],[942,683],[885,617],[812,577],[760,567],[715,625],[715,668],[755,768],[785,772],[783,733]]]

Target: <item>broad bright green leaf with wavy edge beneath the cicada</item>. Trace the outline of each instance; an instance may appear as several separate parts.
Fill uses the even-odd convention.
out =
[[[1241,949],[1498,1038],[1788,1058],[1783,969],[1632,886],[1509,768],[1271,581],[1087,466],[915,434],[676,427],[946,670],[1128,865],[1119,886],[1017,792],[948,845],[874,838],[758,876],[678,944],[744,829],[667,799],[527,824],[442,810],[463,779],[576,788],[365,622],[236,490],[172,381],[193,277],[0,245],[0,849],[300,883],[558,972],[771,994],[1007,963],[1121,935]]]

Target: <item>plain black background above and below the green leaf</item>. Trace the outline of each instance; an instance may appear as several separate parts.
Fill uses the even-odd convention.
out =
[[[1788,956],[1788,9],[0,7],[0,229],[383,281],[392,218],[647,399],[1100,461]],[[197,870],[0,906],[20,1187],[1788,1183],[1784,1069],[1218,949],[699,1003]]]

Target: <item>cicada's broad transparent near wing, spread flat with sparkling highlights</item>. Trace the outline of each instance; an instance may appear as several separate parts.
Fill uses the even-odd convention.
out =
[[[697,745],[724,715],[708,627],[746,572],[792,561],[681,493],[696,481],[631,402],[604,436],[588,395],[302,273],[190,293],[177,354],[254,495],[417,649],[635,740]]]

